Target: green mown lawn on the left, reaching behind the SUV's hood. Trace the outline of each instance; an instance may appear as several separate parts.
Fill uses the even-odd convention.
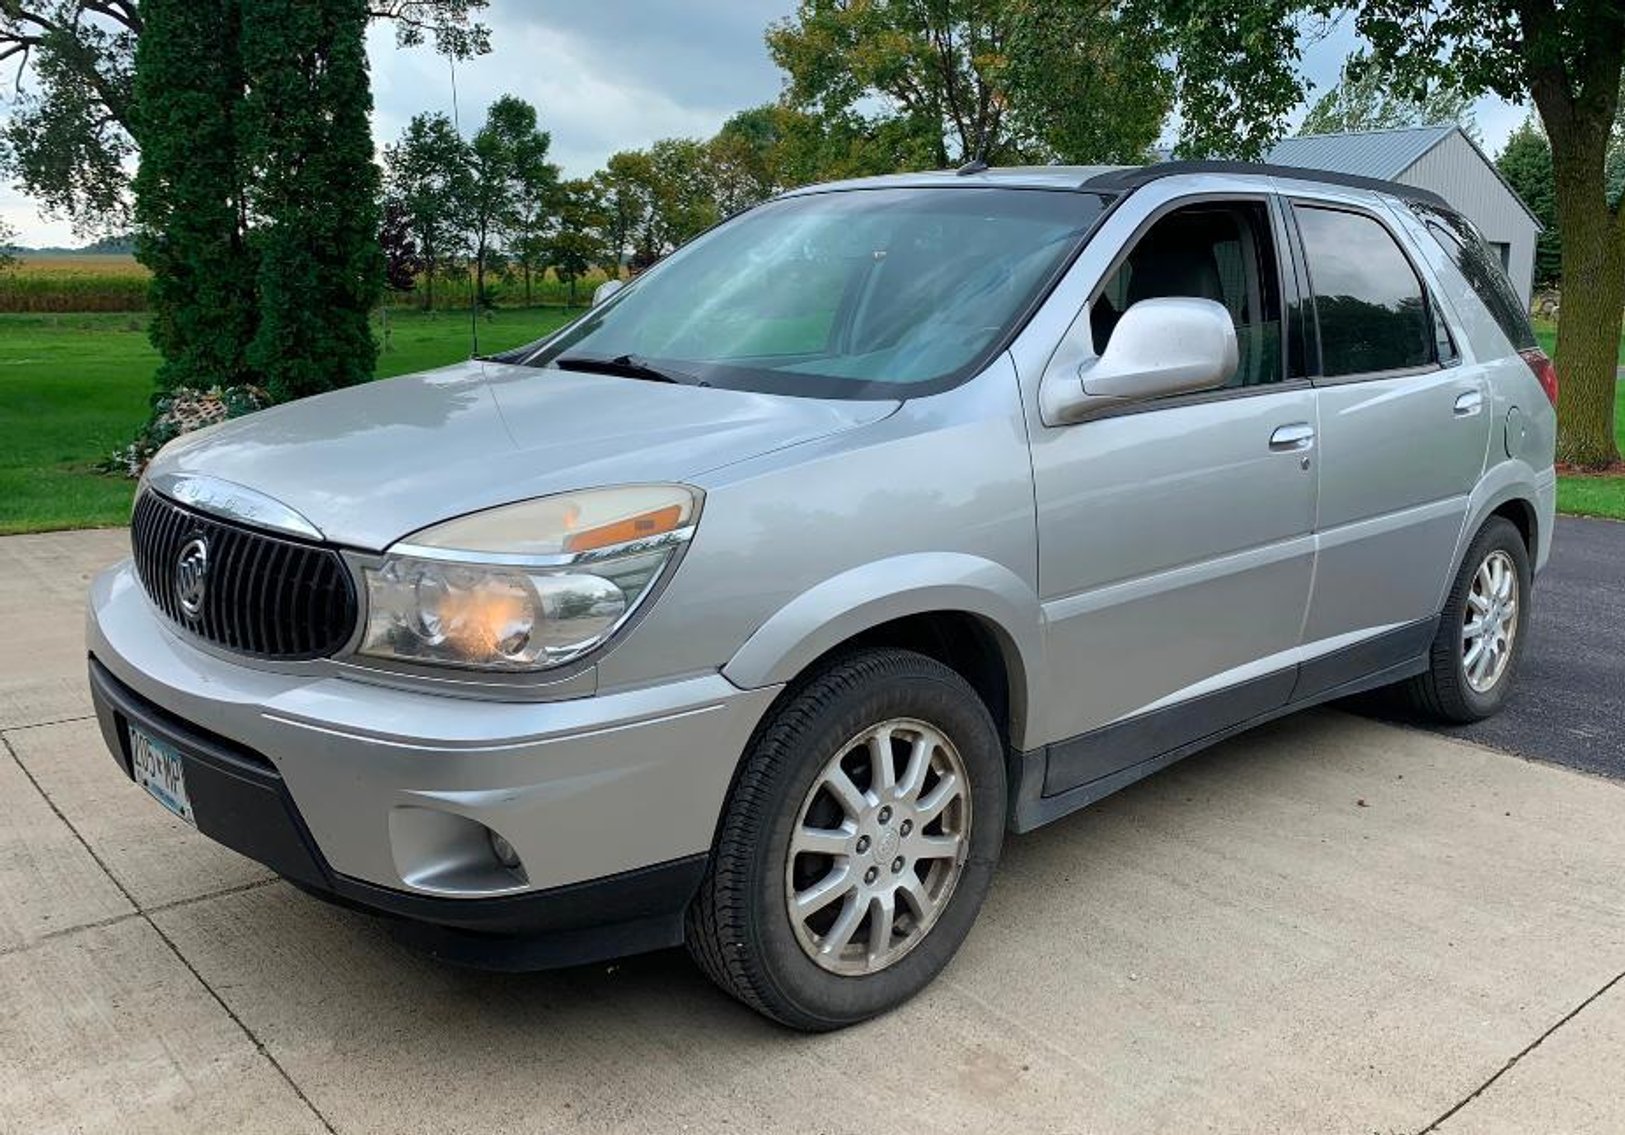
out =
[[[500,309],[479,322],[479,350],[533,340],[574,312]],[[468,317],[390,312],[379,377],[468,358]],[[145,315],[0,314],[0,535],[124,524],[135,481],[94,463],[146,416],[158,353]]]

